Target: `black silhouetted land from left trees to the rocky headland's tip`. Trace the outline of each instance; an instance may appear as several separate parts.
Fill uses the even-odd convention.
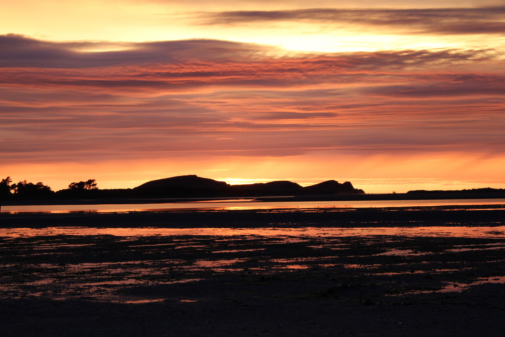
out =
[[[311,186],[281,180],[266,183],[230,185],[225,181],[198,177],[194,174],[181,175],[147,181],[134,188],[98,189],[94,179],[72,182],[69,188],[54,192],[42,182],[33,184],[20,181],[9,185],[10,177],[3,179],[0,186],[2,200],[54,200],[54,199],[103,199],[103,198],[236,198],[269,196],[308,195],[364,195],[362,189],[349,181],[339,183],[327,180]],[[5,188],[4,188],[5,187]]]

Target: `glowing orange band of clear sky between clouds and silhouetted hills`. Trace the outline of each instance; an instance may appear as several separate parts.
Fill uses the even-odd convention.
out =
[[[88,164],[39,163],[0,166],[14,182],[27,179],[42,181],[59,190],[74,181],[96,179],[99,188],[133,188],[142,183],[170,176],[196,174],[200,177],[246,184],[289,180],[302,186],[326,180],[350,181],[366,193],[398,193],[415,189],[503,188],[501,167],[505,156],[482,159],[460,154],[439,154],[438,158],[399,156],[303,156],[287,158],[179,159],[144,161],[93,162]],[[198,167],[210,169],[201,170]],[[468,168],[471,170],[469,171]],[[285,172],[290,172],[286,175]],[[6,175],[6,174],[4,174]],[[242,175],[250,178],[233,178]],[[231,178],[230,178],[231,176]],[[485,178],[475,179],[480,176]],[[267,177],[267,178],[265,178]],[[367,178],[364,178],[367,177]],[[435,178],[433,178],[435,177]]]

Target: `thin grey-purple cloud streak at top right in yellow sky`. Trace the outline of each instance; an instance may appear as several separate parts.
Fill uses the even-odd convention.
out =
[[[334,9],[226,11],[204,13],[199,24],[236,25],[259,22],[310,22],[378,26],[406,34],[487,34],[505,32],[505,6],[436,9]]]

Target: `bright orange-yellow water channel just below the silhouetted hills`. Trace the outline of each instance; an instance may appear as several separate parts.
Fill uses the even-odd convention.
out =
[[[163,211],[176,209],[314,209],[314,208],[369,208],[369,207],[417,207],[455,205],[505,205],[505,199],[448,199],[448,200],[375,200],[375,201],[303,201],[258,202],[254,199],[207,200],[163,204],[103,204],[103,205],[21,205],[2,206],[2,213],[46,212],[131,212]]]

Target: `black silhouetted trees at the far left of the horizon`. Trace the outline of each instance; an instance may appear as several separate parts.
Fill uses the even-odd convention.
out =
[[[59,191],[53,191],[48,185],[44,185],[43,182],[39,181],[37,183],[28,182],[26,180],[20,180],[18,183],[12,183],[11,177],[7,177],[0,181],[0,198],[2,200],[9,199],[47,199],[52,198],[55,195],[75,195],[76,197],[80,195],[85,195],[86,191],[98,189],[98,184],[95,179],[89,179],[87,181],[71,182],[68,188],[61,189]],[[64,192],[62,192],[64,191]]]

